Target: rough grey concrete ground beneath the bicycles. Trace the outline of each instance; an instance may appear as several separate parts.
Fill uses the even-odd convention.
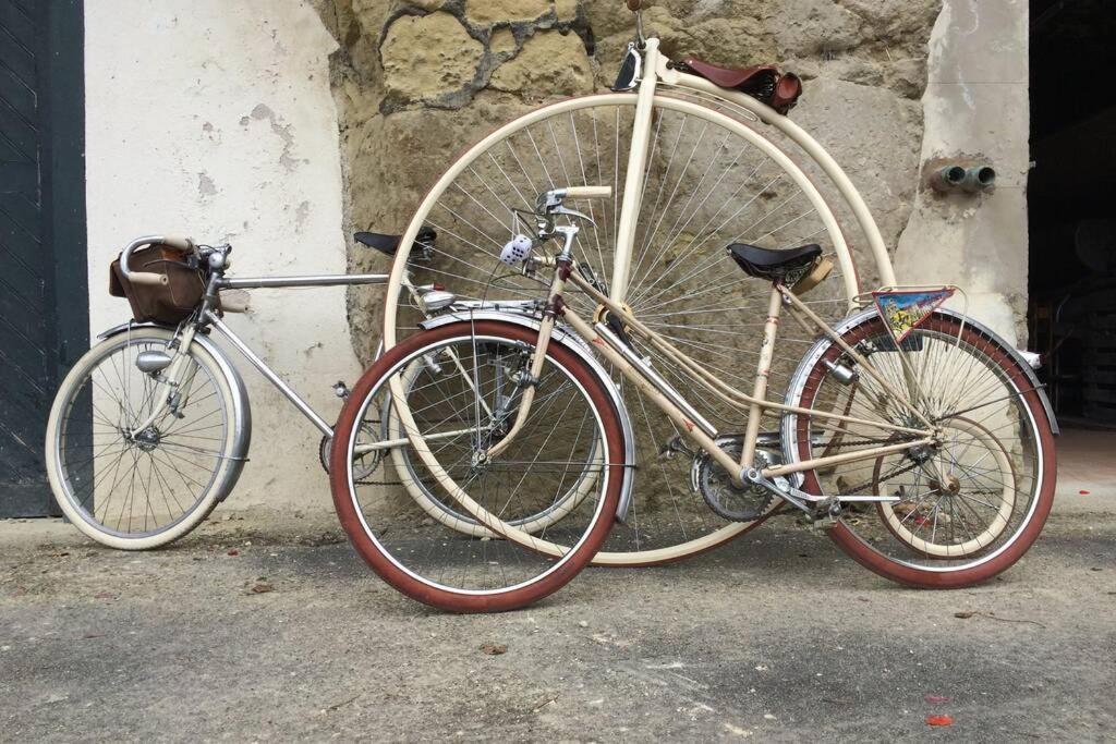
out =
[[[1116,741],[1116,436],[1061,445],[1042,539],[954,592],[783,522],[455,617],[325,513],[218,512],[145,554],[0,523],[0,741]]]

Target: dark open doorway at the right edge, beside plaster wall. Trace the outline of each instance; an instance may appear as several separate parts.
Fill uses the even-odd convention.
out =
[[[1116,427],[1114,38],[1110,0],[1031,0],[1030,344],[1090,427]]]

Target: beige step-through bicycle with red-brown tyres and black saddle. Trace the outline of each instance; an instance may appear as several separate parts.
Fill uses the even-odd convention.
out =
[[[921,588],[985,581],[1030,548],[1054,500],[1057,423],[1018,351],[942,309],[956,288],[883,288],[873,309],[831,327],[801,299],[833,271],[819,245],[730,244],[722,250],[738,269],[768,286],[744,393],[605,294],[579,263],[579,224],[591,219],[565,202],[610,195],[608,186],[542,193],[532,235],[507,244],[525,276],[548,278],[537,322],[443,316],[354,387],[330,483],[350,541],[382,578],[443,609],[499,611],[548,596],[587,566],[627,514],[634,465],[628,410],[599,360],[681,433],[673,451],[690,457],[694,491],[725,519],[753,522],[787,504],[865,567]],[[560,249],[537,254],[549,241]],[[591,319],[567,290],[597,303]],[[815,338],[776,403],[768,378],[783,313]],[[658,358],[691,396],[660,374]],[[691,402],[695,390],[706,409],[716,402],[743,415],[743,432],[719,431]],[[764,416],[778,419],[779,460],[760,446]],[[402,438],[377,434],[385,418],[397,419]],[[485,537],[417,522],[413,509],[385,509],[382,494],[359,489],[360,457],[385,447],[413,451],[429,482]],[[560,520],[536,532],[517,526],[523,514],[566,504],[571,483],[591,487]],[[852,509],[874,509],[878,520]]]

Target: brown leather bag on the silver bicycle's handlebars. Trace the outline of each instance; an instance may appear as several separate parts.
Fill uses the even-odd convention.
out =
[[[129,271],[150,271],[166,276],[165,284],[134,284],[121,271],[121,259],[113,261],[108,293],[126,297],[137,322],[177,325],[190,317],[205,293],[205,279],[191,268],[180,251],[166,245],[147,245],[132,253]]]

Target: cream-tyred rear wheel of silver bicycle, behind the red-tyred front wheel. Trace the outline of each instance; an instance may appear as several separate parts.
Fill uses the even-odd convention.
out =
[[[468,369],[462,366],[460,359],[449,359],[448,364],[454,365],[458,370],[468,375]],[[430,365],[426,359],[415,359],[412,361],[406,369],[403,370],[402,384],[403,389],[407,394],[404,400],[408,404],[411,403],[411,394],[417,389],[417,394],[422,396],[431,383],[431,371]],[[386,423],[386,438],[388,439],[402,439],[406,436],[404,427],[400,417],[395,415],[395,408],[391,404],[391,397],[385,397],[384,404],[381,407],[381,419]],[[514,410],[508,410],[509,416],[514,415]],[[595,433],[590,432],[589,435],[593,436]],[[469,446],[468,435],[462,435],[458,437],[458,442],[448,442],[446,447],[466,447]],[[594,438],[590,446],[590,457],[594,460],[597,453],[599,442]],[[425,511],[431,518],[442,522],[448,528],[456,530],[463,534],[468,534],[475,538],[494,538],[497,537],[491,530],[485,528],[483,524],[478,522],[475,519],[470,516],[468,513],[463,513],[460,506],[454,505],[453,499],[448,499],[445,494],[440,493],[441,489],[437,482],[430,476],[429,471],[423,466],[421,462],[416,462],[414,458],[414,450],[412,447],[395,447],[391,451],[392,463],[395,467],[396,473],[400,474],[400,482],[407,486],[407,491],[417,502],[417,504]],[[550,526],[558,520],[566,516],[570,511],[576,509],[578,504],[584,500],[595,487],[595,471],[591,468],[586,468],[583,472],[584,477],[573,480],[568,485],[569,489],[565,494],[559,495],[552,501],[542,504],[539,512],[533,514],[523,514],[512,520],[508,520],[508,523],[512,526],[535,534]],[[367,480],[366,477],[360,477],[359,472],[354,474],[357,481]]]

